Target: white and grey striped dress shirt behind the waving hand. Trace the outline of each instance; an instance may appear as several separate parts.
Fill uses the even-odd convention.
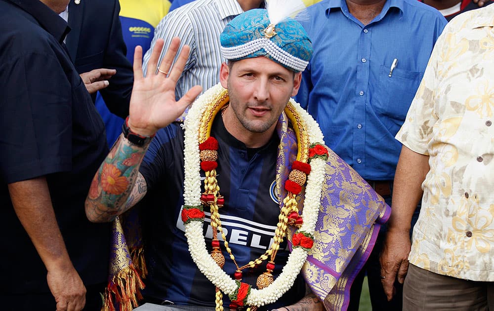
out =
[[[191,50],[177,82],[175,97],[179,99],[198,84],[206,91],[219,82],[219,69],[225,61],[220,52],[219,36],[226,24],[241,13],[243,10],[237,0],[196,0],[168,13],[156,28],[151,47],[144,55],[144,74],[156,40],[165,40],[161,63],[171,39],[179,37],[180,50],[184,44]]]

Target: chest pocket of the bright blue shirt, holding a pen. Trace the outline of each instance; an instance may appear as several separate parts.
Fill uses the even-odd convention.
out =
[[[381,65],[377,96],[373,98],[371,104],[377,116],[389,117],[395,121],[403,122],[423,72],[414,72],[397,67],[393,69],[392,75],[389,77],[389,69],[389,66]]]

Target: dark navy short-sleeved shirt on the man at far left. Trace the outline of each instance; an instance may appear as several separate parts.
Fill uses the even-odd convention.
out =
[[[86,285],[108,277],[110,225],[84,199],[108,154],[103,122],[62,43],[67,24],[39,0],[0,0],[0,291],[48,292],[46,269],[7,185],[45,176],[69,256]]]

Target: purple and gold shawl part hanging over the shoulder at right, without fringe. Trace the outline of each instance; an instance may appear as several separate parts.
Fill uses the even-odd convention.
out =
[[[297,141],[284,115],[277,131],[281,142],[276,185],[279,197],[285,197],[283,185],[296,159]],[[328,151],[314,246],[302,273],[327,310],[346,310],[350,286],[369,258],[379,228],[388,220],[391,208],[350,165],[329,148]],[[298,202],[303,212],[303,198]]]

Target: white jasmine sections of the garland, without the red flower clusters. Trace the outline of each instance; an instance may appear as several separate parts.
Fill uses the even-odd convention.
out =
[[[212,108],[208,107],[210,103],[214,102],[224,91],[225,89],[219,83],[207,90],[194,102],[185,119],[184,202],[187,206],[201,205],[199,129],[203,125],[201,124],[202,116],[208,108]],[[320,143],[324,145],[324,137],[316,121],[294,100],[290,99],[289,105],[300,117],[302,124],[299,124],[299,128],[307,129],[309,144]],[[319,157],[313,158],[310,162],[311,172],[307,177],[302,214],[303,224],[299,231],[314,233],[321,204],[325,164],[325,161]],[[230,295],[235,292],[237,289],[236,281],[227,275],[207,252],[203,223],[191,221],[186,224],[185,236],[189,244],[189,252],[198,269],[223,293]],[[307,253],[308,250],[302,247],[294,247],[282,273],[266,288],[251,289],[247,297],[247,305],[260,307],[277,301],[293,285],[307,259]]]

